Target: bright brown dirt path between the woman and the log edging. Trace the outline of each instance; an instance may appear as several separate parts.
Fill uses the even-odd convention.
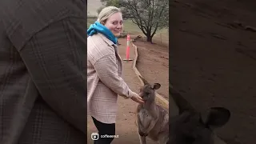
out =
[[[119,54],[122,58],[126,58],[126,39],[120,38],[118,39],[122,45],[118,46]],[[130,58],[134,58],[134,47],[130,46]],[[137,75],[134,73],[132,69],[132,63],[123,62],[123,78],[127,82],[128,86],[130,86],[131,90],[138,92],[139,86],[141,83],[138,80]],[[138,144],[138,134],[136,130],[136,126],[134,123],[135,114],[134,111],[136,109],[137,104],[130,99],[124,99],[122,97],[118,98],[118,118],[116,123],[116,134],[118,138],[114,138],[113,144]],[[93,143],[90,138],[90,134],[93,132],[97,132],[94,123],[90,117],[87,117],[87,143]],[[149,144],[153,144],[154,142],[147,140]]]

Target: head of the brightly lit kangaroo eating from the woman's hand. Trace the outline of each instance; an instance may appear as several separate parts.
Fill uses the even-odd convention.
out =
[[[142,78],[141,76],[139,77]],[[153,85],[151,85],[144,78],[142,78],[142,81],[144,82],[144,86],[140,88],[138,95],[142,97],[143,101],[153,101],[155,98],[154,91],[158,90],[161,85],[159,83],[154,83]]]

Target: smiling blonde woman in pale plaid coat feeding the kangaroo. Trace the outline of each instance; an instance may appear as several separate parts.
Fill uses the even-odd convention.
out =
[[[122,27],[121,10],[107,6],[87,30],[87,114],[93,118],[99,135],[115,135],[118,95],[143,103],[121,78],[122,59],[117,37]],[[109,144],[113,139],[99,136],[94,143]]]

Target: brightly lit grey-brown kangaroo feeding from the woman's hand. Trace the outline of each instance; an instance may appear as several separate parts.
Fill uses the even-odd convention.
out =
[[[138,95],[142,97],[144,104],[138,105],[135,121],[140,143],[146,144],[146,137],[148,137],[158,144],[166,144],[169,140],[169,112],[155,102],[155,90],[158,90],[161,85],[159,83],[150,85],[144,78],[142,81],[144,86]]]

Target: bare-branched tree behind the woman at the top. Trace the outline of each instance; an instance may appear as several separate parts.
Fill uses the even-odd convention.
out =
[[[152,42],[156,31],[169,25],[168,0],[122,0],[125,18],[130,18],[146,35],[146,41]]]

